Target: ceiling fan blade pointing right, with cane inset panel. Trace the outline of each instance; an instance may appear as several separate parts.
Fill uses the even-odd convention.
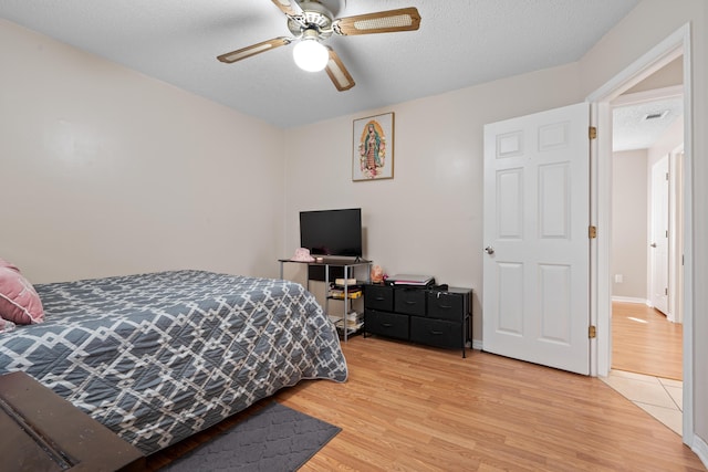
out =
[[[415,31],[419,27],[420,14],[415,7],[340,18],[332,23],[334,32],[342,35]]]

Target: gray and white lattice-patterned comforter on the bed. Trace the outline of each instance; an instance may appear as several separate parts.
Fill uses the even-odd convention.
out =
[[[35,286],[45,322],[0,335],[24,370],[148,454],[305,378],[344,381],[302,285],[174,271]]]

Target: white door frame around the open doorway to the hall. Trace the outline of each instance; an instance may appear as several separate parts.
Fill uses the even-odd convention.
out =
[[[612,113],[610,103],[635,84],[652,75],[674,59],[683,55],[684,64],[684,443],[694,442],[693,396],[693,326],[694,306],[690,294],[693,279],[693,111],[690,24],[686,23],[620,74],[590,94],[591,125],[598,129],[591,144],[591,221],[598,228],[598,238],[591,243],[591,321],[597,337],[591,344],[591,375],[607,376],[612,365]],[[608,130],[608,132],[607,132]]]

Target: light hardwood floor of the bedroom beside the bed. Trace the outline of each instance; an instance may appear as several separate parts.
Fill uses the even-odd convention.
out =
[[[302,471],[706,470],[676,433],[597,378],[377,337],[356,336],[343,350],[346,382],[308,380],[274,396],[342,428]],[[155,470],[212,434],[148,463]]]

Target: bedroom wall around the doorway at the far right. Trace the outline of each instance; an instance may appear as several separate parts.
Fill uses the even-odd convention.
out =
[[[687,266],[694,284],[687,286],[694,312],[693,366],[694,448],[702,448],[708,462],[708,2],[705,0],[642,0],[580,62],[582,90],[586,95],[616,76],[684,24],[691,28],[693,141],[687,165],[693,174],[693,250]]]

